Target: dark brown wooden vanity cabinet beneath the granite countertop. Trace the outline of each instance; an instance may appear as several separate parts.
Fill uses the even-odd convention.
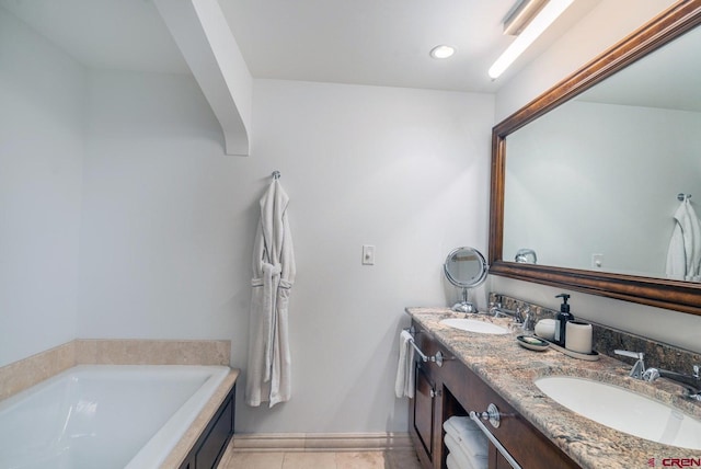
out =
[[[416,393],[415,398],[410,400],[410,434],[425,469],[447,468],[443,422],[452,415],[468,415],[469,411],[486,411],[490,403],[494,403],[499,412],[507,416],[502,416],[498,428],[489,422],[484,422],[485,426],[524,469],[579,467],[467,365],[453,358],[452,354],[429,333],[416,323],[413,325],[417,331],[416,343],[422,351],[429,356],[441,351],[445,358],[443,367],[430,362],[417,363]],[[425,382],[424,379],[428,381]],[[430,400],[425,398],[424,392],[418,392],[420,389],[424,391],[426,386],[434,389],[434,398]],[[433,415],[430,428],[425,417],[428,413]],[[427,438],[432,438],[432,442],[427,443]],[[489,467],[510,468],[508,461],[491,443]]]

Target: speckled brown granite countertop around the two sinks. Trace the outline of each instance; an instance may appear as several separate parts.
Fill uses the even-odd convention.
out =
[[[464,318],[448,308],[406,308],[406,312],[480,376],[531,424],[584,468],[662,467],[665,458],[699,460],[701,450],[662,445],[598,424],[556,403],[536,385],[549,375],[571,375],[629,388],[701,419],[701,403],[680,397],[680,387],[628,377],[630,365],[602,355],[599,361],[573,358],[555,350],[533,352],[518,345],[516,336],[461,331],[439,323]],[[467,314],[471,319],[507,327],[510,318]],[[654,461],[653,461],[654,459]],[[667,461],[670,464],[670,461]]]

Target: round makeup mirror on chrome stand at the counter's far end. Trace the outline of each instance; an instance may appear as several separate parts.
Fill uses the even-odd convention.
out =
[[[458,312],[478,312],[476,307],[468,301],[468,290],[481,285],[486,278],[487,266],[484,255],[474,248],[457,248],[446,258],[443,270],[452,285],[462,288],[462,301],[453,305]]]

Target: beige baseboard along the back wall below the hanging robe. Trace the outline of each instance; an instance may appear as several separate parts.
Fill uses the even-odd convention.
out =
[[[234,434],[235,451],[413,450],[409,433],[253,433]]]

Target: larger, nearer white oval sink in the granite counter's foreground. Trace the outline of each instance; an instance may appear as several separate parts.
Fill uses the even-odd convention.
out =
[[[548,397],[595,422],[665,445],[701,449],[701,421],[618,386],[573,376],[535,381]]]

